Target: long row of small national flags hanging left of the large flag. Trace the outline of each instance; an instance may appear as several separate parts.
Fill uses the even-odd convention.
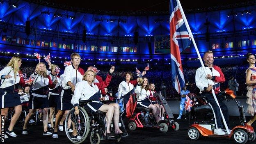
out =
[[[86,51],[100,51],[100,52],[113,52],[117,53],[118,48],[124,53],[137,53],[137,47],[118,47],[118,46],[87,46],[83,44],[67,44],[67,43],[56,43],[55,41],[42,41],[34,39],[24,39],[21,37],[11,37],[7,35],[2,35],[2,41],[8,43],[17,43],[30,46],[39,46],[45,48],[63,48],[70,50],[86,50]]]

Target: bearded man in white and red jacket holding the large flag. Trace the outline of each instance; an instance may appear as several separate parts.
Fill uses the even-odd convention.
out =
[[[215,135],[225,135],[226,133],[222,130],[224,128],[222,124],[222,117],[220,114],[219,107],[217,103],[215,102],[213,98],[213,94],[211,89],[214,89],[214,93],[218,94],[220,92],[220,83],[225,82],[224,74],[222,73],[222,70],[219,68],[219,66],[213,65],[213,52],[208,50],[203,55],[204,64],[206,67],[206,73],[205,76],[203,72],[203,66],[197,69],[196,71],[196,85],[200,89],[200,94],[206,97],[206,100],[208,104],[213,109],[213,114],[215,118]],[[208,79],[210,80],[210,84],[208,83]],[[225,105],[225,103],[222,100],[222,97],[218,97],[219,106],[222,109],[224,118],[226,120],[226,124],[229,127],[229,109]],[[231,130],[230,130],[231,132]]]

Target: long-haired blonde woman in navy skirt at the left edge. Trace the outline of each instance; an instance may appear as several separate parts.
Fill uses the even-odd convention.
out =
[[[9,107],[14,107],[14,116],[6,133],[11,137],[17,137],[13,128],[21,114],[21,99],[18,95],[18,85],[27,86],[24,79],[19,76],[21,74],[21,57],[13,56],[7,66],[0,71],[0,99],[1,99],[1,116],[6,118]],[[5,138],[8,138],[5,135]]]

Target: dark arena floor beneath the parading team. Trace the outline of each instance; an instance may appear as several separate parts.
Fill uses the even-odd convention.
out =
[[[177,115],[174,115],[176,118]],[[250,117],[247,117],[247,120]],[[230,117],[230,126],[233,128],[236,125],[239,125],[239,117],[232,116]],[[225,138],[210,138],[210,137],[201,137],[197,141],[191,141],[187,137],[187,128],[190,126],[187,119],[176,120],[180,125],[180,130],[177,132],[168,130],[167,133],[160,133],[156,128],[145,128],[145,129],[136,129],[135,131],[129,131],[129,136],[121,139],[119,144],[227,144],[235,143],[233,139]],[[254,129],[256,129],[256,123],[253,124]],[[43,135],[43,125],[29,125],[28,126],[28,135],[22,135],[21,125],[18,124],[14,128],[17,137],[10,137],[5,139],[6,144],[71,144],[68,138],[65,135],[65,132],[59,132],[59,138],[53,139],[52,135],[44,136]],[[85,144],[89,144],[89,139],[86,139]],[[101,141],[101,144],[113,144],[116,142],[113,141]],[[255,144],[255,141],[253,142]]]

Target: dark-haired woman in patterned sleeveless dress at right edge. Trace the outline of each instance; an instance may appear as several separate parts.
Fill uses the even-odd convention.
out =
[[[255,56],[251,53],[247,53],[247,62],[249,62],[249,68],[246,70],[246,80],[247,85],[247,113],[251,114],[253,117],[246,123],[246,125],[251,126],[251,124],[256,120],[256,68],[255,68]]]

